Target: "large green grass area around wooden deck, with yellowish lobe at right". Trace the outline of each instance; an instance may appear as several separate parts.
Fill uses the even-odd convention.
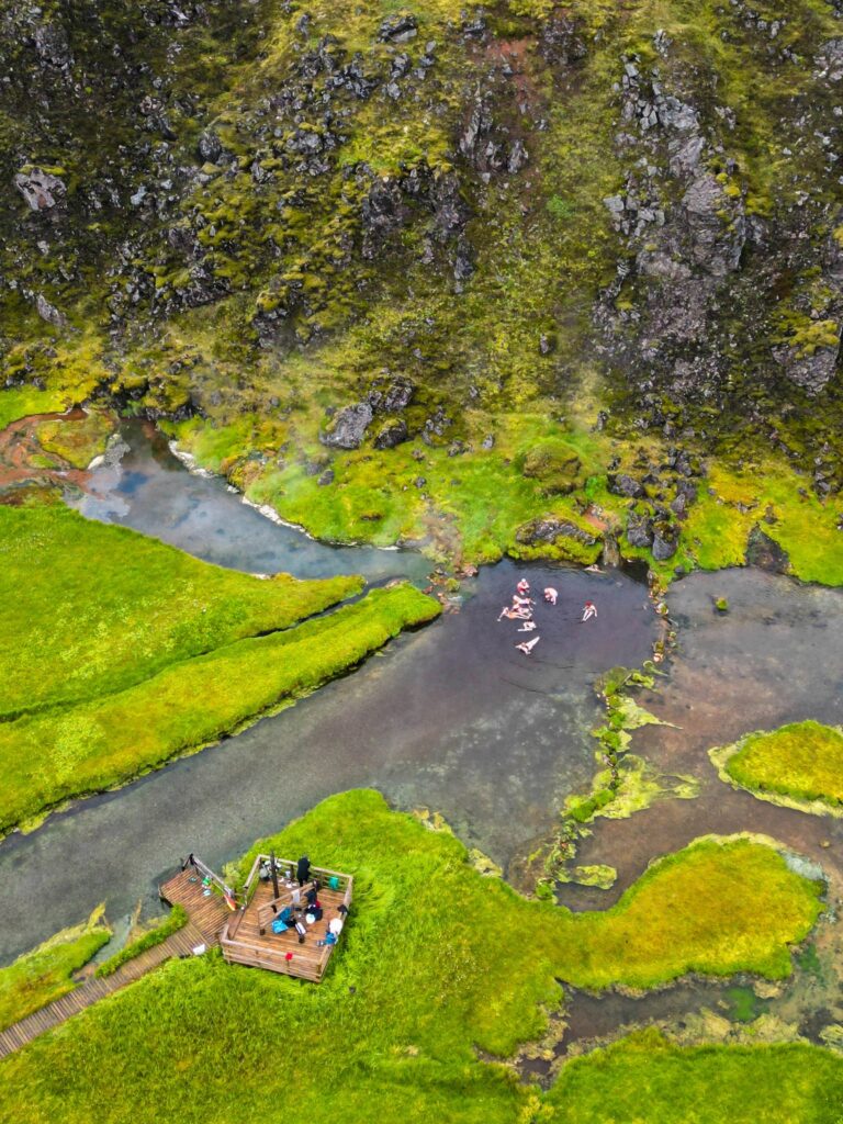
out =
[[[738,963],[779,975],[819,909],[816,886],[769,846],[726,840],[691,844],[615,910],[578,917],[483,878],[451,834],[371,791],[332,797],[256,844],[238,877],[268,847],[355,876],[325,980],[229,967],[218,953],[173,961],[3,1062],[3,1124],[221,1124],[244,1098],[250,1120],[278,1120],[279,1106],[348,1124],[553,1120],[535,1088],[477,1050],[506,1055],[541,1034],[558,979],[656,982]],[[701,894],[708,885],[717,892]]]

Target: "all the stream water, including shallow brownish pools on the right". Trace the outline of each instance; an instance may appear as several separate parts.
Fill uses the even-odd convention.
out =
[[[335,550],[244,505],[225,483],[185,471],[161,437],[130,427],[129,448],[76,500],[88,516],[136,527],[218,564],[299,577],[362,572],[369,581],[424,581],[411,552]],[[515,624],[498,623],[517,574],[560,590],[537,613],[542,641],[525,659]],[[729,611],[714,609],[727,597]],[[599,610],[579,623],[586,599]],[[590,785],[601,716],[592,682],[638,665],[659,623],[646,589],[623,572],[592,574],[502,562],[463,583],[462,607],[405,635],[352,676],[251,729],[135,783],[81,801],[28,836],[0,844],[4,916],[0,962],[106,901],[114,922],[139,900],[155,908],[161,876],[188,851],[214,865],[279,830],[325,796],[374,786],[397,806],[442,812],[469,845],[506,863],[553,824],[564,797]],[[665,723],[637,731],[632,749],[667,773],[700,781],[694,800],[662,800],[629,819],[598,819],[582,863],[618,870],[610,891],[564,887],[574,909],[602,908],[656,855],[698,835],[761,832],[822,863],[832,899],[843,891],[843,821],[803,815],[720,783],[707,749],[755,728],[813,717],[843,723],[843,591],[803,587],[759,570],[696,573],[669,597],[679,642],[658,689],[641,701]],[[535,635],[535,634],[534,634]],[[31,901],[44,909],[31,910]],[[796,978],[761,1008],[807,1036],[843,1021],[837,927],[821,926],[822,972]],[[741,981],[737,981],[738,984]],[[749,986],[751,981],[744,981]],[[558,1051],[667,1021],[681,1028],[707,1008],[731,1016],[735,981],[686,981],[641,999],[574,994]],[[733,1014],[733,1013],[732,1013]],[[546,1062],[527,1063],[550,1073]]]

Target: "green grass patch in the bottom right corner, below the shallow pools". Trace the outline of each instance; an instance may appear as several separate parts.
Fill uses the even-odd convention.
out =
[[[558,1124],[839,1124],[843,1058],[804,1042],[677,1046],[658,1031],[570,1061]]]

